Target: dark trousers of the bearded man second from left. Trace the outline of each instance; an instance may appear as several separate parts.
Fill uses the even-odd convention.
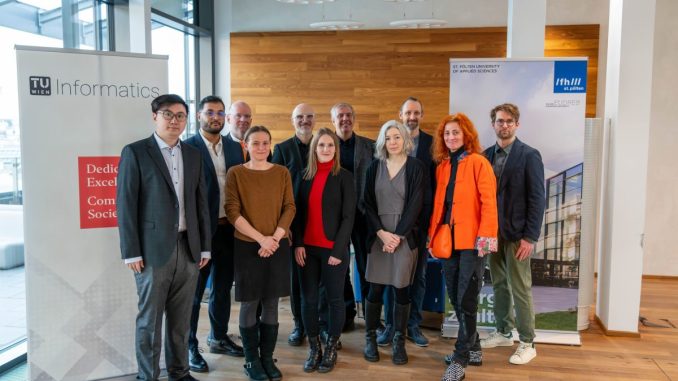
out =
[[[193,297],[191,328],[188,336],[189,348],[197,348],[198,318],[207,279],[212,275],[208,313],[210,318],[210,339],[223,340],[228,333],[231,318],[231,288],[233,288],[233,231],[226,225],[218,225],[212,238],[212,260],[200,270],[198,286]]]

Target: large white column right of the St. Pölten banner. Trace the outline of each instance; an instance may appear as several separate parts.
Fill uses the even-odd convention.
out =
[[[638,332],[652,90],[655,0],[610,0],[596,314],[608,333]]]

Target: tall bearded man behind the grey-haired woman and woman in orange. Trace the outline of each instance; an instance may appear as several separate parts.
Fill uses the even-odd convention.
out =
[[[428,250],[426,249],[426,232],[428,231],[429,218],[431,216],[431,204],[433,201],[433,181],[435,179],[435,164],[431,156],[431,144],[433,137],[424,131],[421,131],[420,124],[424,119],[424,105],[418,98],[408,97],[400,106],[400,120],[407,127],[407,131],[412,137],[414,147],[410,156],[419,159],[429,170],[424,178],[424,205],[419,215],[419,242],[417,268],[414,273],[414,282],[410,286],[410,317],[407,322],[407,338],[419,347],[427,347],[428,339],[419,329],[419,324],[423,319],[421,309],[424,303],[424,294],[426,293],[426,266],[428,259]],[[393,289],[388,288],[384,298],[384,315],[386,317],[386,329],[379,335],[377,344],[386,346],[393,340],[395,330],[393,329]]]

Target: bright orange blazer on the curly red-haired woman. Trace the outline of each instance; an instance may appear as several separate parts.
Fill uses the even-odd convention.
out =
[[[445,192],[450,181],[450,159],[436,167],[436,192],[428,235],[443,221]],[[497,238],[497,180],[492,164],[477,153],[463,153],[457,168],[452,200],[454,249],[474,249],[477,237]]]

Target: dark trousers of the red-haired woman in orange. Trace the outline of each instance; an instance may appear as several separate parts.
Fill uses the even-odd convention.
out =
[[[443,270],[447,294],[459,321],[453,357],[461,364],[468,364],[469,351],[481,350],[477,313],[485,261],[476,250],[455,250],[443,261]]]

